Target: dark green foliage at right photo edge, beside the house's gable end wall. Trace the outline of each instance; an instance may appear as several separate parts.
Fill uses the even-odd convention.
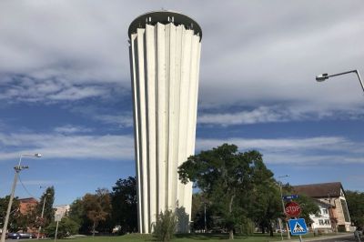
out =
[[[346,191],[351,222],[356,227],[364,227],[364,193],[359,191]]]

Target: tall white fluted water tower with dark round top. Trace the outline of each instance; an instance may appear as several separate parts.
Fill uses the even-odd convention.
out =
[[[177,167],[195,152],[202,31],[187,15],[158,11],[137,17],[128,35],[138,229],[152,232],[157,214],[171,209],[187,232],[192,184],[180,183]]]

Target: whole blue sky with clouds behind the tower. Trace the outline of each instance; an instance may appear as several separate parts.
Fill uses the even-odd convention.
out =
[[[56,205],[135,176],[128,25],[173,10],[203,32],[196,153],[258,149],[282,182],[364,191],[364,2],[0,2],[0,197]]]

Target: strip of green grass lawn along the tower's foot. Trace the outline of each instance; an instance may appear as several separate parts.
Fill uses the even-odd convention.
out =
[[[313,237],[312,234],[308,234],[304,237]],[[303,238],[304,238],[303,237]],[[284,237],[287,239],[287,237]],[[292,237],[298,238],[298,237]],[[228,235],[212,235],[212,234],[194,234],[194,235],[177,235],[172,241],[174,242],[197,242],[197,241],[229,241]],[[57,239],[59,242],[147,242],[147,241],[157,241],[151,235],[139,235],[139,234],[130,234],[120,237],[79,237],[75,239]],[[237,242],[253,242],[253,241],[261,241],[261,242],[268,242],[268,241],[281,241],[280,234],[275,234],[274,237],[269,237],[267,234],[255,234],[254,236],[235,236],[234,241]]]

